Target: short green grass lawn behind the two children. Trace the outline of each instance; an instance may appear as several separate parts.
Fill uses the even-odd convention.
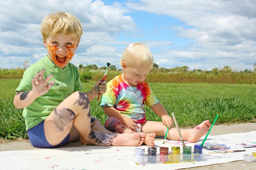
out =
[[[0,138],[27,138],[22,109],[13,105],[20,79],[0,79]],[[84,90],[89,90],[95,82],[83,83]],[[180,127],[193,127],[203,120],[215,124],[256,122],[256,85],[255,84],[170,84],[149,83],[153,92],[166,108],[175,113]],[[91,101],[91,114],[101,123],[106,115],[99,106],[100,100]],[[150,107],[145,107],[148,120],[161,121]]]

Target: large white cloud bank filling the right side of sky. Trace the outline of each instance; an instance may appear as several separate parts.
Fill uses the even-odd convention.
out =
[[[164,54],[157,53],[156,60],[167,57],[170,63],[191,68],[195,68],[197,62],[208,69],[213,63],[215,67],[229,64],[252,68],[256,62],[255,1],[141,0],[126,5],[133,10],[172,16],[185,23],[183,27],[160,28],[175,30],[179,37],[194,43],[176,50],[167,49]]]

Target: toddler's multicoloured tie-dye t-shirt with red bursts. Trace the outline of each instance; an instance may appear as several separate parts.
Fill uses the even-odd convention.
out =
[[[107,83],[107,91],[101,100],[101,106],[114,107],[126,117],[135,120],[145,119],[144,102],[147,106],[159,101],[145,81],[131,87],[121,78],[121,74]]]

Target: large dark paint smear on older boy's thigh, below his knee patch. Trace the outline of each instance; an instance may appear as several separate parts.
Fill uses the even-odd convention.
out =
[[[53,120],[56,124],[56,126],[63,131],[64,127],[66,125],[69,126],[69,123],[72,122],[72,120],[75,119],[75,113],[68,108],[63,108],[61,110],[54,109],[55,116],[53,117]],[[70,128],[70,127],[68,127]]]

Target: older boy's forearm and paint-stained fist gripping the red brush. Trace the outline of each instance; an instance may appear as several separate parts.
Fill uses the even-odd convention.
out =
[[[107,90],[107,82],[102,79],[97,81],[94,87],[92,87],[89,91],[84,92],[85,95],[89,98],[89,101],[92,101],[96,96],[101,93],[102,95],[106,93]]]

